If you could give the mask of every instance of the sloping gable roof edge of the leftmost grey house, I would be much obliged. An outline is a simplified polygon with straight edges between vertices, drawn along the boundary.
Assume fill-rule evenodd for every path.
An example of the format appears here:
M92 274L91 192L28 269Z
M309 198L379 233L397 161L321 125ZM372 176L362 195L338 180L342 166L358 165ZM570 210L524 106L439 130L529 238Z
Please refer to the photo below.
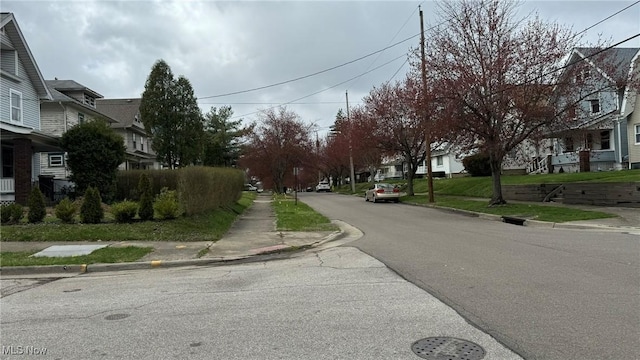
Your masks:
M7 38L11 41L11 46L18 52L18 56L22 60L27 76L38 93L38 97L43 100L51 100L51 93L44 82L38 64L31 54L31 50L29 50L27 41L22 35L13 13L0 13L0 28L4 28ZM2 46L6 45L3 42Z

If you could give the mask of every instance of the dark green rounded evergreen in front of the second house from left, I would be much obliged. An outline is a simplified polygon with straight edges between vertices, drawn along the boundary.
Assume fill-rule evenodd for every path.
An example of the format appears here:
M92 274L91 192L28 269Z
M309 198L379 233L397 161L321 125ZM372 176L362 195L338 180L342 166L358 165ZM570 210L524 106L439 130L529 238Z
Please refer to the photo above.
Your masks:
M78 124L65 132L60 146L67 153L69 179L79 193L94 186L106 201L115 193L118 166L125 160L125 146L118 135L102 120Z

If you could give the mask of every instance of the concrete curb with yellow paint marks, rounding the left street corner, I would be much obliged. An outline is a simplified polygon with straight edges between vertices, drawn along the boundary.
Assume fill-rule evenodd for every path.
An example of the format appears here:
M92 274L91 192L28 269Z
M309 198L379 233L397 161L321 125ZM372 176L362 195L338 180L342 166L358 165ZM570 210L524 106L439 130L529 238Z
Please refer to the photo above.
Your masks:
M320 246L330 241L340 239L344 231L335 231L323 239L302 245L279 247L277 249L253 252L249 250L248 254L230 257L213 257L206 259L187 259L187 260L150 260L128 263L113 264L82 264L82 265L45 265L45 266L10 266L0 268L0 276L16 276L16 275L50 275L50 274L86 274L109 271L128 271L128 270L146 270L157 268L175 268L186 266L222 266L226 264L260 262L266 260L286 259L290 256L316 246Z

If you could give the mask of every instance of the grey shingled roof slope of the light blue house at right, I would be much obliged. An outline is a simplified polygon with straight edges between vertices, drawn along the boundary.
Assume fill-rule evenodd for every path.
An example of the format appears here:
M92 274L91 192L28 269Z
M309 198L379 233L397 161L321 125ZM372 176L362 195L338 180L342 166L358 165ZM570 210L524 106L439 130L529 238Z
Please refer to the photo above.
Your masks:
M631 68L631 62L640 52L640 48L610 48L599 52L601 50L601 48L587 47L575 49L582 58L588 57L588 60L593 65L597 66L616 82L626 80Z

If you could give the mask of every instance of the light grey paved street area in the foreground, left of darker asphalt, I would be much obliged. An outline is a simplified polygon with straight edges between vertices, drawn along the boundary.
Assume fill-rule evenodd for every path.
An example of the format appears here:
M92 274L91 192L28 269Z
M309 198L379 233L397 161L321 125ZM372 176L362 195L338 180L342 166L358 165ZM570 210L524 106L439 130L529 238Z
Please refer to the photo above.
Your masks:
M351 247L32 285L0 299L3 359L418 359L412 343L432 336L519 359ZM8 355L29 347L46 355Z

